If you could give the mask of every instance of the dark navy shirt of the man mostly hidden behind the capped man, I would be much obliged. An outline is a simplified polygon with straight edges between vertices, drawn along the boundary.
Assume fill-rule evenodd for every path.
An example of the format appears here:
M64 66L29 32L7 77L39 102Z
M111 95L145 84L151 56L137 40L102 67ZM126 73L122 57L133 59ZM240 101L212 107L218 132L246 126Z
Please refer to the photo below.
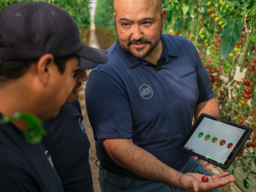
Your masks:
M58 116L45 121L44 125L47 136L43 144L51 154L65 192L93 191L88 161L90 142L82 120L77 100L63 105Z

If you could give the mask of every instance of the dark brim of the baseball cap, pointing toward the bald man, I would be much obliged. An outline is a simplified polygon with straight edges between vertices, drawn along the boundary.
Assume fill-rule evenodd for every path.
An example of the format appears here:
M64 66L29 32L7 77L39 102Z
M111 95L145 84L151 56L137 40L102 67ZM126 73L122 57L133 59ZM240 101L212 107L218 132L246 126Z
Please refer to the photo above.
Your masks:
M106 63L109 61L109 57L106 56L107 51L100 50L87 46L83 43L83 48L76 55L80 56L79 70L91 70L97 67L100 63Z

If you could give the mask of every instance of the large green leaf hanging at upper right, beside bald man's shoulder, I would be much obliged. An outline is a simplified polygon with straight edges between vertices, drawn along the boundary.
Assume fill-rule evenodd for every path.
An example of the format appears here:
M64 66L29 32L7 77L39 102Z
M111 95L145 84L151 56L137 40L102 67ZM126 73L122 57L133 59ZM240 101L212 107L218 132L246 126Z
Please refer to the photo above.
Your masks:
M240 40L240 35L243 31L243 23L239 19L229 20L224 26L224 31L221 33L221 52L223 59L235 48L235 43Z

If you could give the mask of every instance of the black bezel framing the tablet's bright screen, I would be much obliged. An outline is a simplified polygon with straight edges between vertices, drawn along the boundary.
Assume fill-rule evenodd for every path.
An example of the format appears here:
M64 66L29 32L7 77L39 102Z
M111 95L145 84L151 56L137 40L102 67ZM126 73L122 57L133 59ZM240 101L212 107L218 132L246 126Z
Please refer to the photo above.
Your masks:
M184 149L183 147L185 146L186 142L190 139L191 135L194 133L194 131L196 130L196 128L198 127L198 125L200 124L200 122L204 119L204 117L212 119L212 120L217 120L220 122L223 122L224 124L228 124L228 125L232 125L235 127L238 127L240 129L245 130L243 136L240 138L240 140L238 141L237 145L234 147L234 149L232 150L231 154L228 156L227 160L225 161L224 164L220 164L217 161L208 159L204 156L201 156L199 154L196 154L193 151L189 151L187 149ZM247 141L248 137L250 136L250 134L252 133L252 129L250 127L244 126L244 125L240 125L240 124L236 124L235 122L231 122L228 120L224 120L224 119L220 119L218 117L214 117L211 115L207 115L207 114L201 114L198 119L196 119L194 125L191 127L191 129L189 130L189 132L186 134L186 136L184 137L184 139L180 142L178 149L181 151L184 151L192 156L197 156L199 159L205 160L208 163L211 163L213 165L219 166L220 168L223 169L228 169L229 166L232 164L233 160L235 159L235 157L237 156L238 152L240 151L240 149L242 149L243 145L245 144L245 142Z

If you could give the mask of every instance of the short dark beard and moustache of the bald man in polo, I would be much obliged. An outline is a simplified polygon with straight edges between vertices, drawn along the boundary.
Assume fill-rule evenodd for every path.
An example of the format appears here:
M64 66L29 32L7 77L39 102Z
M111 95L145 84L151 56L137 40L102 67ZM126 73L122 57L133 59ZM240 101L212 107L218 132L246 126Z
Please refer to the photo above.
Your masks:
M163 25L162 25L162 20L161 20L161 28L160 28L160 33L159 36L157 37L157 40L152 42L150 40L147 40L147 38L142 37L140 40L129 40L129 42L125 45L125 43L122 43L119 41L118 38L118 33L116 30L116 35L117 35L117 41L119 42L120 46L127 52L129 53L129 55L131 55L132 57L135 57L137 59L140 58L145 58L147 56L150 55L150 53L157 47L157 45L160 42L160 38L162 35L162 31L163 31ZM143 43L148 43L150 45L150 47L147 50L144 50L144 48L136 48L135 51L131 51L130 46L132 44L143 44Z

